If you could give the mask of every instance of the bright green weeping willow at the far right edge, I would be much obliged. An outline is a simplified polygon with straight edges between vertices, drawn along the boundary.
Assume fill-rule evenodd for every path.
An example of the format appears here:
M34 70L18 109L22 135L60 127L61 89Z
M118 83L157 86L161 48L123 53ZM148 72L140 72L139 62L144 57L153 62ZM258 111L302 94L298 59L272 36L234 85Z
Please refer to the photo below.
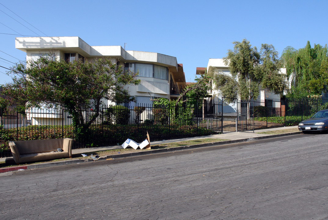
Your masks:
M328 48L308 41L304 48L286 47L281 60L291 83L290 96L305 97L328 93Z

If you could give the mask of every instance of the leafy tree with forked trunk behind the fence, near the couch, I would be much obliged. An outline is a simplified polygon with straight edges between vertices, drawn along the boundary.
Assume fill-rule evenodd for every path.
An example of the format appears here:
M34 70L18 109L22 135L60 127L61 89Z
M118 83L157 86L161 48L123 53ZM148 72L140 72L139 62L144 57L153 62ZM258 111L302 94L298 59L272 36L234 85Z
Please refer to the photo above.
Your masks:
M8 104L15 103L16 109L63 106L80 134L99 116L102 100L130 101L125 86L140 82L136 73L125 72L109 59L66 62L40 57L13 66L9 74L15 75L13 81L2 91ZM88 108L94 109L95 114L86 121L83 110Z

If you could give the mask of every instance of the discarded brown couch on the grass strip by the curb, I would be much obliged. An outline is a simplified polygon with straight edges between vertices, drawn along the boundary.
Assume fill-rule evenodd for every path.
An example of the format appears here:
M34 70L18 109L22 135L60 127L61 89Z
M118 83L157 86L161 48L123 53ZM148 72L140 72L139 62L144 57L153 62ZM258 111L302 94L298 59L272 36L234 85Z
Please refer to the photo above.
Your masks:
M57 158L72 157L71 138L10 141L9 146L15 163L51 160ZM57 149L61 149L57 151Z

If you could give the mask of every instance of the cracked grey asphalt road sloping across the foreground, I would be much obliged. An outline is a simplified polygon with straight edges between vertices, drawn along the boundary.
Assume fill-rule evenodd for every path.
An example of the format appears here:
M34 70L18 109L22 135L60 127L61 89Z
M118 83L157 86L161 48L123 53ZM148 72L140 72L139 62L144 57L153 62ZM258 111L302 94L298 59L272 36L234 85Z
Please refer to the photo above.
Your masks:
M0 219L328 219L327 134L0 175Z

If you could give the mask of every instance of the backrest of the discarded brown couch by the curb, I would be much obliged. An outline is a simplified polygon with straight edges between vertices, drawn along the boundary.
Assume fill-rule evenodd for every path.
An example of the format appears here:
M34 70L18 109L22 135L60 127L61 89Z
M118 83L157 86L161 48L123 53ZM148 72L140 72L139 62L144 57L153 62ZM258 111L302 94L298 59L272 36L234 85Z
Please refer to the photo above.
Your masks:
M32 140L32 141L15 141L19 154L33 154L56 151L57 148L63 149L63 138Z

